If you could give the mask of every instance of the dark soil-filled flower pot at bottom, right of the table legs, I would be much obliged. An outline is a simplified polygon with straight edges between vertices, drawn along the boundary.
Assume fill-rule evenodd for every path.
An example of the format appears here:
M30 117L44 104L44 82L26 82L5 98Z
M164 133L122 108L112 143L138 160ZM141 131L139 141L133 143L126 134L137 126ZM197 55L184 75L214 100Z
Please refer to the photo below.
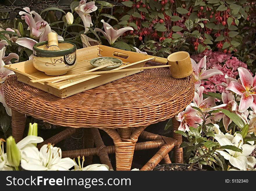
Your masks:
M190 165L182 163L170 163L156 166L153 171L197 171L203 170L198 167L193 166L192 169L189 169Z

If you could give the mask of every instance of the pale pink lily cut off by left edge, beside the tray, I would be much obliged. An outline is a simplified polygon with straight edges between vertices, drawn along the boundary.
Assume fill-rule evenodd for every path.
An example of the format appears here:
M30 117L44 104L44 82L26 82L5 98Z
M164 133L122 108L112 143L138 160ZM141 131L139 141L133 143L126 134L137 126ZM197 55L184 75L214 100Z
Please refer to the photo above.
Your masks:
M0 50L0 102L3 103L3 106L6 108L6 112L8 115L12 116L11 109L6 105L3 94L3 86L2 83L5 81L8 75L15 74L13 71L3 67L5 63L2 60L2 57L5 53L5 47Z

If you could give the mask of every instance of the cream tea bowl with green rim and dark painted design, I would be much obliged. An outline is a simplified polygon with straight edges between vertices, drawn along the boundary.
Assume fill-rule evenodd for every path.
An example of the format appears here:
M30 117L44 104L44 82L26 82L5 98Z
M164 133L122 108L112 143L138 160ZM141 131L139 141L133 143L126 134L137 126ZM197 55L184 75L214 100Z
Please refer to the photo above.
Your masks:
M50 76L66 74L77 65L76 45L58 41L60 50L48 51L48 41L33 46L33 66Z

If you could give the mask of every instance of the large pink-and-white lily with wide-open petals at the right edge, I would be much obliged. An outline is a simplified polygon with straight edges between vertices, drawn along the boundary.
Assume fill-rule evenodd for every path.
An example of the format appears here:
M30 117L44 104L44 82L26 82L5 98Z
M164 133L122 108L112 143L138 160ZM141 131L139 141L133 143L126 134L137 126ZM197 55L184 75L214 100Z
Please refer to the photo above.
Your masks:
M253 111L256 111L256 76L253 78L250 72L243 67L238 68L238 73L242 85L235 81L231 81L226 90L230 90L238 95L241 95L238 109L239 112L244 112L249 107Z

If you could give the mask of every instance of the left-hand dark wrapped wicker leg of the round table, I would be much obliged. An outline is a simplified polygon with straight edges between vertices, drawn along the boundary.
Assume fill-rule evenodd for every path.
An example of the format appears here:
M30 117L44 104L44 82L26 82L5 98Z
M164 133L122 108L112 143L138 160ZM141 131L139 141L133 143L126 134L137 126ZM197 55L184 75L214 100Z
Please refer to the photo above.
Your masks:
M15 142L19 142L23 138L23 133L26 124L26 114L19 113L12 109L12 131Z

